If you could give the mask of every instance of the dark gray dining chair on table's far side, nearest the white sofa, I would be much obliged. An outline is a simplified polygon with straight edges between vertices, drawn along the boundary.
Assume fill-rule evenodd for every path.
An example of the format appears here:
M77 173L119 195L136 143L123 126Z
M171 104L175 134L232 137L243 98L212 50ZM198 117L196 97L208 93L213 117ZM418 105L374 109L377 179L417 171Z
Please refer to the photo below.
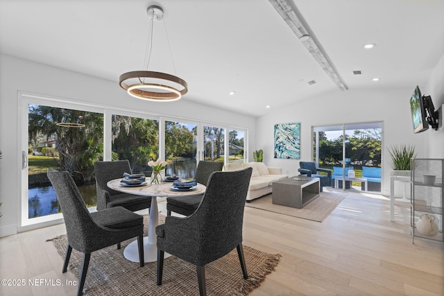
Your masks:
M208 178L211 173L222 171L223 162L205 162L201 160L197 164L194 179L196 182L207 185ZM189 216L198 208L203 194L189 196L172 196L167 198L167 216L171 216L171 212Z

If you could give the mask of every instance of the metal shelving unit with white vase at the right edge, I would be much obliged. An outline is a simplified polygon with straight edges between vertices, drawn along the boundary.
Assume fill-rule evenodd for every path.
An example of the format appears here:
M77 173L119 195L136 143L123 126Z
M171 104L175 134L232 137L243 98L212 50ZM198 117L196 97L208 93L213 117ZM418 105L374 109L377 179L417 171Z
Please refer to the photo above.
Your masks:
M411 240L415 237L444 241L444 159L413 158L411 159ZM427 182L425 175L434 176L434 182ZM435 217L438 225L436 236L420 234L416 223L422 214Z

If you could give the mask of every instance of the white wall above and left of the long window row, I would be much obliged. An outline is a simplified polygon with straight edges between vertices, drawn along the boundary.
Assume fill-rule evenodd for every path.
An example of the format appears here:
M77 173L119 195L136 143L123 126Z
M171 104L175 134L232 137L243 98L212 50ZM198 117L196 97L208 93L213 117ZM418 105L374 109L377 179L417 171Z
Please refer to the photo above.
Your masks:
M128 106L166 116L180 116L208 123L230 124L248 129L248 141L255 143L255 118L187 101L157 103L128 96L118 82L66 71L44 64L0 55L0 236L15 234L19 227L21 148L17 128L17 92L92 102L108 107ZM192 87L192 85L190 85ZM130 103L130 104L129 104Z

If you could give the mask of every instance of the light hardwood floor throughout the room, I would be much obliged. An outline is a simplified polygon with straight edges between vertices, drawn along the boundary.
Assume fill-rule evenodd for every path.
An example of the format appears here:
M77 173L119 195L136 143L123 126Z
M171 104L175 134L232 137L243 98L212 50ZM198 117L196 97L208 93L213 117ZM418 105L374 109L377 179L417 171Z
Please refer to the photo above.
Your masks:
M164 200L159 209L166 213ZM396 202L395 222L389 210L388 198L365 193L349 193L323 223L246 207L244 245L282 254L250 295L444 295L444 243L412 244L409 204ZM56 225L1 238L1 279L63 285L0 286L0 295L75 295L66 281L76 278L61 273L62 258L46 242L64 233Z

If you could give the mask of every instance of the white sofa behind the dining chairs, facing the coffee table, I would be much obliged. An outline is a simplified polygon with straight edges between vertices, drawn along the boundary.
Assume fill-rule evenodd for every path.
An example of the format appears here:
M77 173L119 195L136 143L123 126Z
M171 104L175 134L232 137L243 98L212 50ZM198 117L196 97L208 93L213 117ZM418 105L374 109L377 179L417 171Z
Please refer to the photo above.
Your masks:
M248 187L247 200L254 200L271 193L273 182L289 177L289 175L282 175L282 168L266 166L263 162L248 162L246 164L230 162L230 164L224 166L223 170L239 171L248 167L253 168L253 173Z

